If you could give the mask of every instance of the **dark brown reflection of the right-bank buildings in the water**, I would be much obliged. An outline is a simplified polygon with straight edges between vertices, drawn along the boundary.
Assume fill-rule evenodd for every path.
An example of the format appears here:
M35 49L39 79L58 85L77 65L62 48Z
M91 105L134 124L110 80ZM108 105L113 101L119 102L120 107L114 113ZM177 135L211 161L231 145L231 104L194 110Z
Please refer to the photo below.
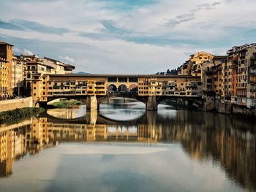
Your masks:
M179 112L162 127L162 138L180 142L189 157L219 161L227 175L255 191L256 135L239 128L253 123L212 113Z

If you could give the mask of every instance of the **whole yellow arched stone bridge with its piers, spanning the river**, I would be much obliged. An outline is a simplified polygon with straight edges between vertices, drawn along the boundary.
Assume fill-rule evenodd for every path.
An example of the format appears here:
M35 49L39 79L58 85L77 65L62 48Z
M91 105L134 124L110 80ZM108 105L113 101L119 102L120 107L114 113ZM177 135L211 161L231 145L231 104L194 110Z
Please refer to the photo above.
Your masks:
M45 74L32 83L32 96L41 106L59 98L86 100L87 110L117 96L142 101L146 110L171 98L202 104L200 77L181 75Z

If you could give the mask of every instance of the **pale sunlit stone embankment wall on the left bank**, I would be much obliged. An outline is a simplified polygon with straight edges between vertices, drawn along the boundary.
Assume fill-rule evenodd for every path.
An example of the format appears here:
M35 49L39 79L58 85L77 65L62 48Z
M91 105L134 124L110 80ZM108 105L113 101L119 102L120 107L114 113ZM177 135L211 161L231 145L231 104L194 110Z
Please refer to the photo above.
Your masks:
M0 112L21 109L25 107L33 107L32 97L0 101Z

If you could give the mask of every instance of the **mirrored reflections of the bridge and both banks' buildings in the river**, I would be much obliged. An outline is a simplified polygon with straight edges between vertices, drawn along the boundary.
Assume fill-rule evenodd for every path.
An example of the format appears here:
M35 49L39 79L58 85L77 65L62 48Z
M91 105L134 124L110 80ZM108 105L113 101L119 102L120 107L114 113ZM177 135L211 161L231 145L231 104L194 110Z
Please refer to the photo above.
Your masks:
M138 105L132 104L135 108L127 112L129 118L125 120L122 107L105 104L99 113L71 117L50 111L39 118L1 126L0 176L12 174L12 163L20 157L34 155L61 142L174 143L181 145L192 161L221 165L233 183L249 191L256 189L254 122L164 106L159 112L145 112ZM84 112L83 107L81 111Z

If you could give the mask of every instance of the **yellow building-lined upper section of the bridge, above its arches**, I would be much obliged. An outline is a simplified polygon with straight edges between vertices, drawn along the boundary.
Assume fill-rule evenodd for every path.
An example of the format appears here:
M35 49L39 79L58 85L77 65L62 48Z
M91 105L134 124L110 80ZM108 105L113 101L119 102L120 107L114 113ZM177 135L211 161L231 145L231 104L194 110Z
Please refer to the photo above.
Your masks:
M109 93L138 96L201 95L200 77L160 74L45 74L32 82L34 101L50 97L107 96Z

